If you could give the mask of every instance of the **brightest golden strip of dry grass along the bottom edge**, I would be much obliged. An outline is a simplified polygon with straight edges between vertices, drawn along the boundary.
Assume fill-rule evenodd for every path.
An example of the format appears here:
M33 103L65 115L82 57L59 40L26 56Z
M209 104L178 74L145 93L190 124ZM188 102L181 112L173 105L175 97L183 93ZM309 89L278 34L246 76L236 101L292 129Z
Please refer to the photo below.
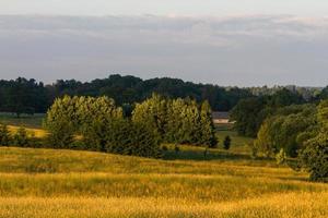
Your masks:
M327 217L328 193L276 194L234 202L195 202L152 197L9 197L0 216L35 217Z

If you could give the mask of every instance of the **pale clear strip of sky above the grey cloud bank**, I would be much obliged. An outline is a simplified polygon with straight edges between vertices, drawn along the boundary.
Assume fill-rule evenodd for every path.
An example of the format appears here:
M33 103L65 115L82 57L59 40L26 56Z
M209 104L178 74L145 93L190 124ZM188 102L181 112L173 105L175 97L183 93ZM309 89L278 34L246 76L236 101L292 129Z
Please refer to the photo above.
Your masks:
M328 15L327 0L0 0L0 14Z

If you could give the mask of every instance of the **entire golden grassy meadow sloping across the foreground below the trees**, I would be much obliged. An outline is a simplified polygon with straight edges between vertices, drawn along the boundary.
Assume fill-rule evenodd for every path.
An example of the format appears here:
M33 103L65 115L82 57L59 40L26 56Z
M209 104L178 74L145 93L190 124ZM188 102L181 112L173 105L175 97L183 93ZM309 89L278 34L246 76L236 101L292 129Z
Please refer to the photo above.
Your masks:
M231 130L218 137L207 155L166 145L162 159L0 147L0 217L328 217L327 184L251 159L251 138Z

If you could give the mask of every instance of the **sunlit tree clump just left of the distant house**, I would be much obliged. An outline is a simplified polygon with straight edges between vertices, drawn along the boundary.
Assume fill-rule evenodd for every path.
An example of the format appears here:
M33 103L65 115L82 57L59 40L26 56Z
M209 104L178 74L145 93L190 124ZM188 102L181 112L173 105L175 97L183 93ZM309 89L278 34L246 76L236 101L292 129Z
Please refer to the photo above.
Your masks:
M138 104L133 122L144 123L165 143L204 145L214 147L216 137L209 102L199 106L191 99L152 98Z

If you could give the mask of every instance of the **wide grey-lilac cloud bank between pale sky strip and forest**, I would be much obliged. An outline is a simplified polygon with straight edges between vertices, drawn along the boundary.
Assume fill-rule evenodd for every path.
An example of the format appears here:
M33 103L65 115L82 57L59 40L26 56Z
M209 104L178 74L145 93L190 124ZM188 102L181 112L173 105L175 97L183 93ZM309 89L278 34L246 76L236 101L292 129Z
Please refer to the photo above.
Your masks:
M0 16L1 77L326 85L327 58L325 17Z

